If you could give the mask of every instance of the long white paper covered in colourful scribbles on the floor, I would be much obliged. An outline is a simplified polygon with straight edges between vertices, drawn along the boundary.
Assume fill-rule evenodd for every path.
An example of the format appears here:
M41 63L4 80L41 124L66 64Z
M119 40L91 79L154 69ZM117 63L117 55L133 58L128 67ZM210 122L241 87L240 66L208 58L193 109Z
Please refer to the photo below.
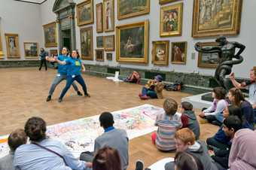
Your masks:
M157 114L161 113L163 113L163 108L154 105L141 105L112 112L114 126L118 129L125 129L130 139L156 130L154 121ZM75 157L79 157L81 152L93 151L94 140L102 133L103 129L99 126L99 115L47 127L47 135L66 144ZM6 154L8 154L7 141L1 143L0 139L0 158Z

